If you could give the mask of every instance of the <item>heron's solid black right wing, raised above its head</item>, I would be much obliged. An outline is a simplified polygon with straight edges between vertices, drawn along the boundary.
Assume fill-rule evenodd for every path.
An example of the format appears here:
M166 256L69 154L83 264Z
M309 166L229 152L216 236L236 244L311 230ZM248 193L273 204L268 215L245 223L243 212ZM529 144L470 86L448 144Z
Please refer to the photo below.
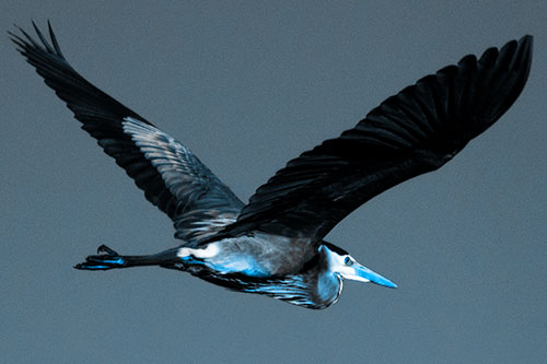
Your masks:
M450 161L514 103L533 37L464 57L387 98L353 129L304 152L260 186L223 233L323 238L374 196Z

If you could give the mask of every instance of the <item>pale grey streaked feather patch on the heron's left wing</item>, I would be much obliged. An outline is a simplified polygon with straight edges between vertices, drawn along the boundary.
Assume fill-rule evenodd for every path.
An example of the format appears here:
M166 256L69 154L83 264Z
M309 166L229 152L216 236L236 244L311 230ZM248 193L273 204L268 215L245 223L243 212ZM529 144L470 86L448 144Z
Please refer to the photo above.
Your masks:
M181 203L177 215L172 216L177 238L195 245L196 240L213 236L235 222L243 202L189 149L165 132L135 118L126 117L121 125L124 132L130 136ZM207 201L208 196L212 203L202 202L203 198Z

